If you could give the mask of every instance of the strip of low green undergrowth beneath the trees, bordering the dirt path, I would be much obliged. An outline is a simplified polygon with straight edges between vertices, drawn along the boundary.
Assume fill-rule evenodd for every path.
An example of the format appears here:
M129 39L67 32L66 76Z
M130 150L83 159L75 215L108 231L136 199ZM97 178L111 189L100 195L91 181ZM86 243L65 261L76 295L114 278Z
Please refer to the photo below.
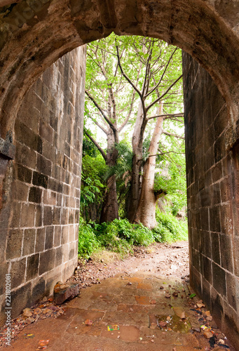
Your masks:
M157 211L158 226L149 230L141 223L132 224L127 219L115 219L110 223L86 224L80 220L78 256L89 258L93 253L105 250L121 257L132 252L132 246L149 246L153 242L172 242L187 239L187 223L172 213Z

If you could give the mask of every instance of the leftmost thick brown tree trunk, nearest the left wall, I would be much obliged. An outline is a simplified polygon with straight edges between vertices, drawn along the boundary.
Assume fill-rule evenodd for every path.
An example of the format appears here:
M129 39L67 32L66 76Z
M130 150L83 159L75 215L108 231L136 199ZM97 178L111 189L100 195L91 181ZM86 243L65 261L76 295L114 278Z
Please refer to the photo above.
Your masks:
M107 166L115 166L118 157L118 151L114 147L114 133L109 128L107 133ZM100 223L112 222L114 219L118 219L118 201L117 201L117 190L116 190L116 176L111 176L107 180L107 190L104 195L104 201L102 204L102 211L100 215Z

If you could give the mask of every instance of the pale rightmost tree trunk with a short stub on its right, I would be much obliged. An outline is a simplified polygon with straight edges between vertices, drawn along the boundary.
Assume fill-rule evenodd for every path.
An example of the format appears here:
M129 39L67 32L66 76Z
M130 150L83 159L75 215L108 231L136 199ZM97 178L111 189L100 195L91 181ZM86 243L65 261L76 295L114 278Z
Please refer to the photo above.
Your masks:
M161 114L159 112L158 114ZM145 227L153 229L156 227L156 202L159 197L165 195L163 190L155 192L153 190L154 185L154 173L156 167L156 156L158 150L158 143L163 132L163 117L159 117L156 121L156 126L153 131L153 136L149 146L149 158L144 164L144 173L142 178L142 190L139 198L139 204L135 216L135 222L142 223Z

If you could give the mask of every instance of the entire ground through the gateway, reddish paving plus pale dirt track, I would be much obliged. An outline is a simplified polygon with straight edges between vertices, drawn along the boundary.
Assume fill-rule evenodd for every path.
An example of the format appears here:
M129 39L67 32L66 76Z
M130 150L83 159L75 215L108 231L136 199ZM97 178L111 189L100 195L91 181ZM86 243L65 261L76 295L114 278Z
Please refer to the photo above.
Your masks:
M235 351L190 297L186 241L137 247L125 260L81 260L70 280L80 294L60 306L45 298L14 319L9 350L45 350L43 340L47 351Z

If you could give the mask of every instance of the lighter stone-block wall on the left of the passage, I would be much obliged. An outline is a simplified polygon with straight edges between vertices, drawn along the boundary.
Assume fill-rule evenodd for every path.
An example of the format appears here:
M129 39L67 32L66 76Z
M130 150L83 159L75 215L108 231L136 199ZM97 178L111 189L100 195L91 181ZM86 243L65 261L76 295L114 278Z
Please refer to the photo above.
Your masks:
M74 272L78 252L86 48L57 60L25 95L0 212L0 295L11 273L12 316ZM4 322L1 312L1 322Z

